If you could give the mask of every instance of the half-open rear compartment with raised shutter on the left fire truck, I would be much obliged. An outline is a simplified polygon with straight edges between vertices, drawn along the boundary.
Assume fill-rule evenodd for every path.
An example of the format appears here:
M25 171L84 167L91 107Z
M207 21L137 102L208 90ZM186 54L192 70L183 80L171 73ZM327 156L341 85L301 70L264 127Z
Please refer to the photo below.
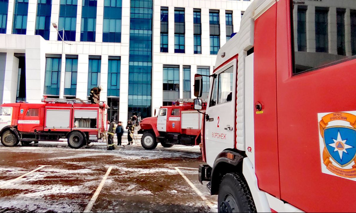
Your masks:
M98 110L74 110L75 128L96 128Z

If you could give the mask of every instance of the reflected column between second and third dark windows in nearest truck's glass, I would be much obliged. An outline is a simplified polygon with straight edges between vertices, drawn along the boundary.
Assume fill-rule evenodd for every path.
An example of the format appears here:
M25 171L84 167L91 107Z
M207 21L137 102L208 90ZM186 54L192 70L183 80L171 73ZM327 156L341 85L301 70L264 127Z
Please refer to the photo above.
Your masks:
M337 55L337 28L336 28L336 7L329 8L328 28L329 28L329 53Z

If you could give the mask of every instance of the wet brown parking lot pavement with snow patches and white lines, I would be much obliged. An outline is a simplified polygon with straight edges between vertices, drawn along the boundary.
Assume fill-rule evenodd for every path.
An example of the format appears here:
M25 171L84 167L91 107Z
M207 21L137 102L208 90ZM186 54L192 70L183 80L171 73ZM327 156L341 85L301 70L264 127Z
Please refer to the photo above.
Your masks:
M217 212L198 181L199 147L145 150L138 140L114 151L1 145L0 212Z

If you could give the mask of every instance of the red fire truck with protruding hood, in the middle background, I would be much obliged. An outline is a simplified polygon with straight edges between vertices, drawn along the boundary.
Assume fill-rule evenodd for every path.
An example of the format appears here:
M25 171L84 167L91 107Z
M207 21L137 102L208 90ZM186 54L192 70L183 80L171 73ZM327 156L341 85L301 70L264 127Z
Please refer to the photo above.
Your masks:
M157 117L143 119L138 131L143 134L142 147L154 149L158 142L166 148L174 144L198 145L203 116L193 106L193 99L177 99L172 106L159 108Z

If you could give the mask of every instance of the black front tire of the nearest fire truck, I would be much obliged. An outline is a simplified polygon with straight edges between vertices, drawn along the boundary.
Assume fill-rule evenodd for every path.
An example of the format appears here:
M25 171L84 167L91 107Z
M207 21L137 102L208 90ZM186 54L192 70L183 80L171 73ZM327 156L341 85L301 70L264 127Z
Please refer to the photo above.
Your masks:
M224 175L219 187L218 212L257 212L250 189L242 175Z

